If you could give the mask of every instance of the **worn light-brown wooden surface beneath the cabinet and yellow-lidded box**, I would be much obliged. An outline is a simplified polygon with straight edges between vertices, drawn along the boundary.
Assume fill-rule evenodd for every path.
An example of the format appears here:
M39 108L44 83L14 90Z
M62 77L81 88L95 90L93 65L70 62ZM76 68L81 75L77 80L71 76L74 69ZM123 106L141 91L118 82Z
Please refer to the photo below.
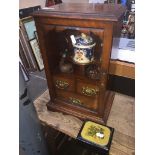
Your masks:
M48 111L48 90L34 101L41 123L76 138L82 121L71 115ZM116 93L107 125L115 128L110 155L133 155L134 143L134 98Z

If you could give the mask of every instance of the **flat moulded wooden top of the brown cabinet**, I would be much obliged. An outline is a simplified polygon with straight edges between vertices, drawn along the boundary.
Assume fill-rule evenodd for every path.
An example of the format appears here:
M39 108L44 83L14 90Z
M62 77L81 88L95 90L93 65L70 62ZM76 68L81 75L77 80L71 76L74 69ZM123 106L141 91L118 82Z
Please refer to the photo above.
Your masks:
M125 9L121 4L61 3L34 12L33 16L116 22L122 18Z

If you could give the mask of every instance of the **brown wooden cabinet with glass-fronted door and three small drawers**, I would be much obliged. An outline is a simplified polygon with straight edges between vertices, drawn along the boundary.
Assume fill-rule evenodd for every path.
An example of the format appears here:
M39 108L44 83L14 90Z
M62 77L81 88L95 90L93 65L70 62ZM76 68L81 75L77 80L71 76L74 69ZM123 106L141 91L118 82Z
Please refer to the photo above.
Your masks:
M112 40L120 36L124 11L121 5L62 3L33 14L51 97L49 110L106 123L114 98L107 90ZM87 63L73 60L71 36L81 34L95 42L93 60ZM70 72L62 71L66 64Z

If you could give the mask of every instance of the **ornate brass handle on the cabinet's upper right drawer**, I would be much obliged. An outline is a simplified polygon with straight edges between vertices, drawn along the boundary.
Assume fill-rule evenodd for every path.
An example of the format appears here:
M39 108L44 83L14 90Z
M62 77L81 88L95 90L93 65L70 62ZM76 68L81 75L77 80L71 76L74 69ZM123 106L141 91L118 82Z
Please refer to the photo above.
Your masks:
M82 87L82 94L86 96L94 96L99 92L98 89L89 88L89 87Z

